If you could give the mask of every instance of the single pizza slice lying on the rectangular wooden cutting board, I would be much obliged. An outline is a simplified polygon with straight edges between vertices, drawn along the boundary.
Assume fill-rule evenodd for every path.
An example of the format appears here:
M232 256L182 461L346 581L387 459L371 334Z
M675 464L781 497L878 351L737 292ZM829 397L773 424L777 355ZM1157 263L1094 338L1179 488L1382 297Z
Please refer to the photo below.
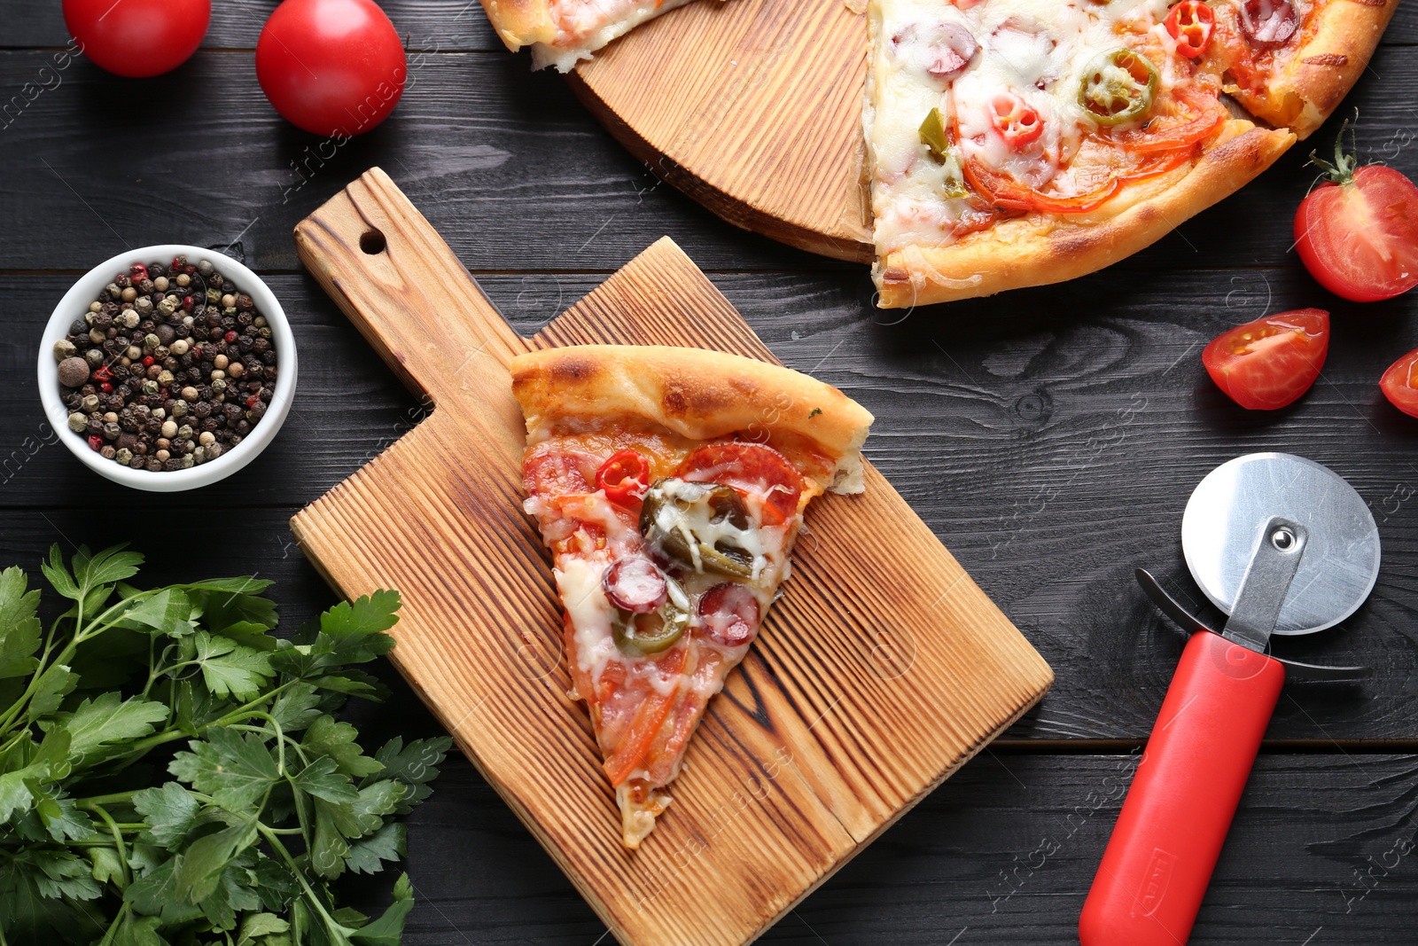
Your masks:
M700 349L520 355L512 391L570 695L590 709L635 848L788 576L808 501L862 491L872 416L805 374Z

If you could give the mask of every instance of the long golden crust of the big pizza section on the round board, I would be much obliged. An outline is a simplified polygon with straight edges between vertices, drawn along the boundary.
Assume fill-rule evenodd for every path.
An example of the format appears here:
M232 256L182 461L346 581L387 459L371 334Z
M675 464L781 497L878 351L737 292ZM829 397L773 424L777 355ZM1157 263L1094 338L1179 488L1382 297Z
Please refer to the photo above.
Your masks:
M1231 119L1191 165L1137 182L1090 214L1029 214L949 247L905 247L872 267L883 309L950 302L1062 282L1151 245L1236 191L1295 143L1288 130Z

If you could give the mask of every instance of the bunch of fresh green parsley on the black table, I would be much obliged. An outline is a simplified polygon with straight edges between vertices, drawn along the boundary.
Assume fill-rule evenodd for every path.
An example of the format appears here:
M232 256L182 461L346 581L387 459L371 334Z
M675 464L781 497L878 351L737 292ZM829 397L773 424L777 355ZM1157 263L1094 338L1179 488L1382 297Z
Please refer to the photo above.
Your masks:
M279 640L269 581L143 591L142 560L52 547L68 610L48 631L40 591L0 572L0 943L397 943L407 875L374 920L330 881L403 857L397 817L450 745L367 756L332 715L383 695L354 665L393 647L398 593Z

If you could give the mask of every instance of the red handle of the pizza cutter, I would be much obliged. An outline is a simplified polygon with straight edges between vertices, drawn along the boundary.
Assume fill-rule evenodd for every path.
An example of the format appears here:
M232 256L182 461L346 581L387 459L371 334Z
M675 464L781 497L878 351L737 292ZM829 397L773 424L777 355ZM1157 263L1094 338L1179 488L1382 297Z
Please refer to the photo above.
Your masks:
M1191 935L1285 665L1197 631L1083 903L1083 946L1178 946Z

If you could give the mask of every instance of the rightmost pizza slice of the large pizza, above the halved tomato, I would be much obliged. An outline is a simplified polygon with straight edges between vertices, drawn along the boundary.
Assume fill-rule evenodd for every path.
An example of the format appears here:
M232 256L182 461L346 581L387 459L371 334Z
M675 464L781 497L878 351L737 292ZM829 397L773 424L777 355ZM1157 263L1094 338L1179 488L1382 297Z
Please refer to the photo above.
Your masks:
M1309 138L1368 65L1398 0L1214 0L1207 48L1225 91Z

